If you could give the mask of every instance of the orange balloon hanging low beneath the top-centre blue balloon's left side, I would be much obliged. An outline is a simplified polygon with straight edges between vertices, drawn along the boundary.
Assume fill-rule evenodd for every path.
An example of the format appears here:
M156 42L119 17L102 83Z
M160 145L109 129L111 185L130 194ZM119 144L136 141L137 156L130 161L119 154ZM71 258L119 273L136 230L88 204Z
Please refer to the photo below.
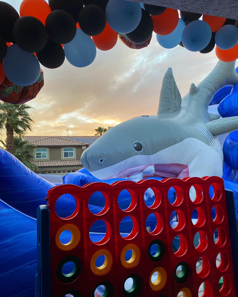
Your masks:
M117 32L112 30L112 28L106 22L106 26L102 33L93 36L93 41L96 47L100 50L112 49L117 43Z

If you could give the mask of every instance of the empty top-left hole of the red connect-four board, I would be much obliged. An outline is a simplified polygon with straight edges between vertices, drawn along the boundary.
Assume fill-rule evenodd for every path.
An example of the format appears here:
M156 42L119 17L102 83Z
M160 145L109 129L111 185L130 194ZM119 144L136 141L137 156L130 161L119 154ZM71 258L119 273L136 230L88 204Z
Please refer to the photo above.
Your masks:
M67 203L67 207L65 207ZM71 194L61 195L55 202L55 213L62 219L75 217L79 211L79 204Z

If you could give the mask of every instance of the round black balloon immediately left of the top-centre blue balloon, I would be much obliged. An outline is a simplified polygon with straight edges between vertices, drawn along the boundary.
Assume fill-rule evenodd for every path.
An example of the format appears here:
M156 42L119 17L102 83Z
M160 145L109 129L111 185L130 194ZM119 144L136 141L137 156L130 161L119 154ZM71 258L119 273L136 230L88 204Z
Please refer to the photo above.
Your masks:
M99 35L106 26L105 13L97 5L86 5L78 15L78 24L85 34L90 36Z

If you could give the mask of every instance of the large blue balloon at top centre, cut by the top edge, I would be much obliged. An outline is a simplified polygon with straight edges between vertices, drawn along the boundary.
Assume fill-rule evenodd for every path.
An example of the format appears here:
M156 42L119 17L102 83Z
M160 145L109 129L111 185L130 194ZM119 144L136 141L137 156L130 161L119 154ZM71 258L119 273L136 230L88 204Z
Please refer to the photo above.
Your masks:
M130 33L141 20L139 3L124 0L109 0L106 6L106 19L117 33Z

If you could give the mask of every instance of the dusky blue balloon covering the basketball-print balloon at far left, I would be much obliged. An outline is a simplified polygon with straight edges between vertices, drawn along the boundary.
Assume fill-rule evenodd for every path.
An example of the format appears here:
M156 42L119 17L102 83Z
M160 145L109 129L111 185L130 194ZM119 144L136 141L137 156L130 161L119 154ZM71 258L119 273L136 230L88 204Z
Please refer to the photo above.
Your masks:
M34 84L41 71L36 56L33 53L25 52L16 44L7 48L2 66L7 78L19 86Z

